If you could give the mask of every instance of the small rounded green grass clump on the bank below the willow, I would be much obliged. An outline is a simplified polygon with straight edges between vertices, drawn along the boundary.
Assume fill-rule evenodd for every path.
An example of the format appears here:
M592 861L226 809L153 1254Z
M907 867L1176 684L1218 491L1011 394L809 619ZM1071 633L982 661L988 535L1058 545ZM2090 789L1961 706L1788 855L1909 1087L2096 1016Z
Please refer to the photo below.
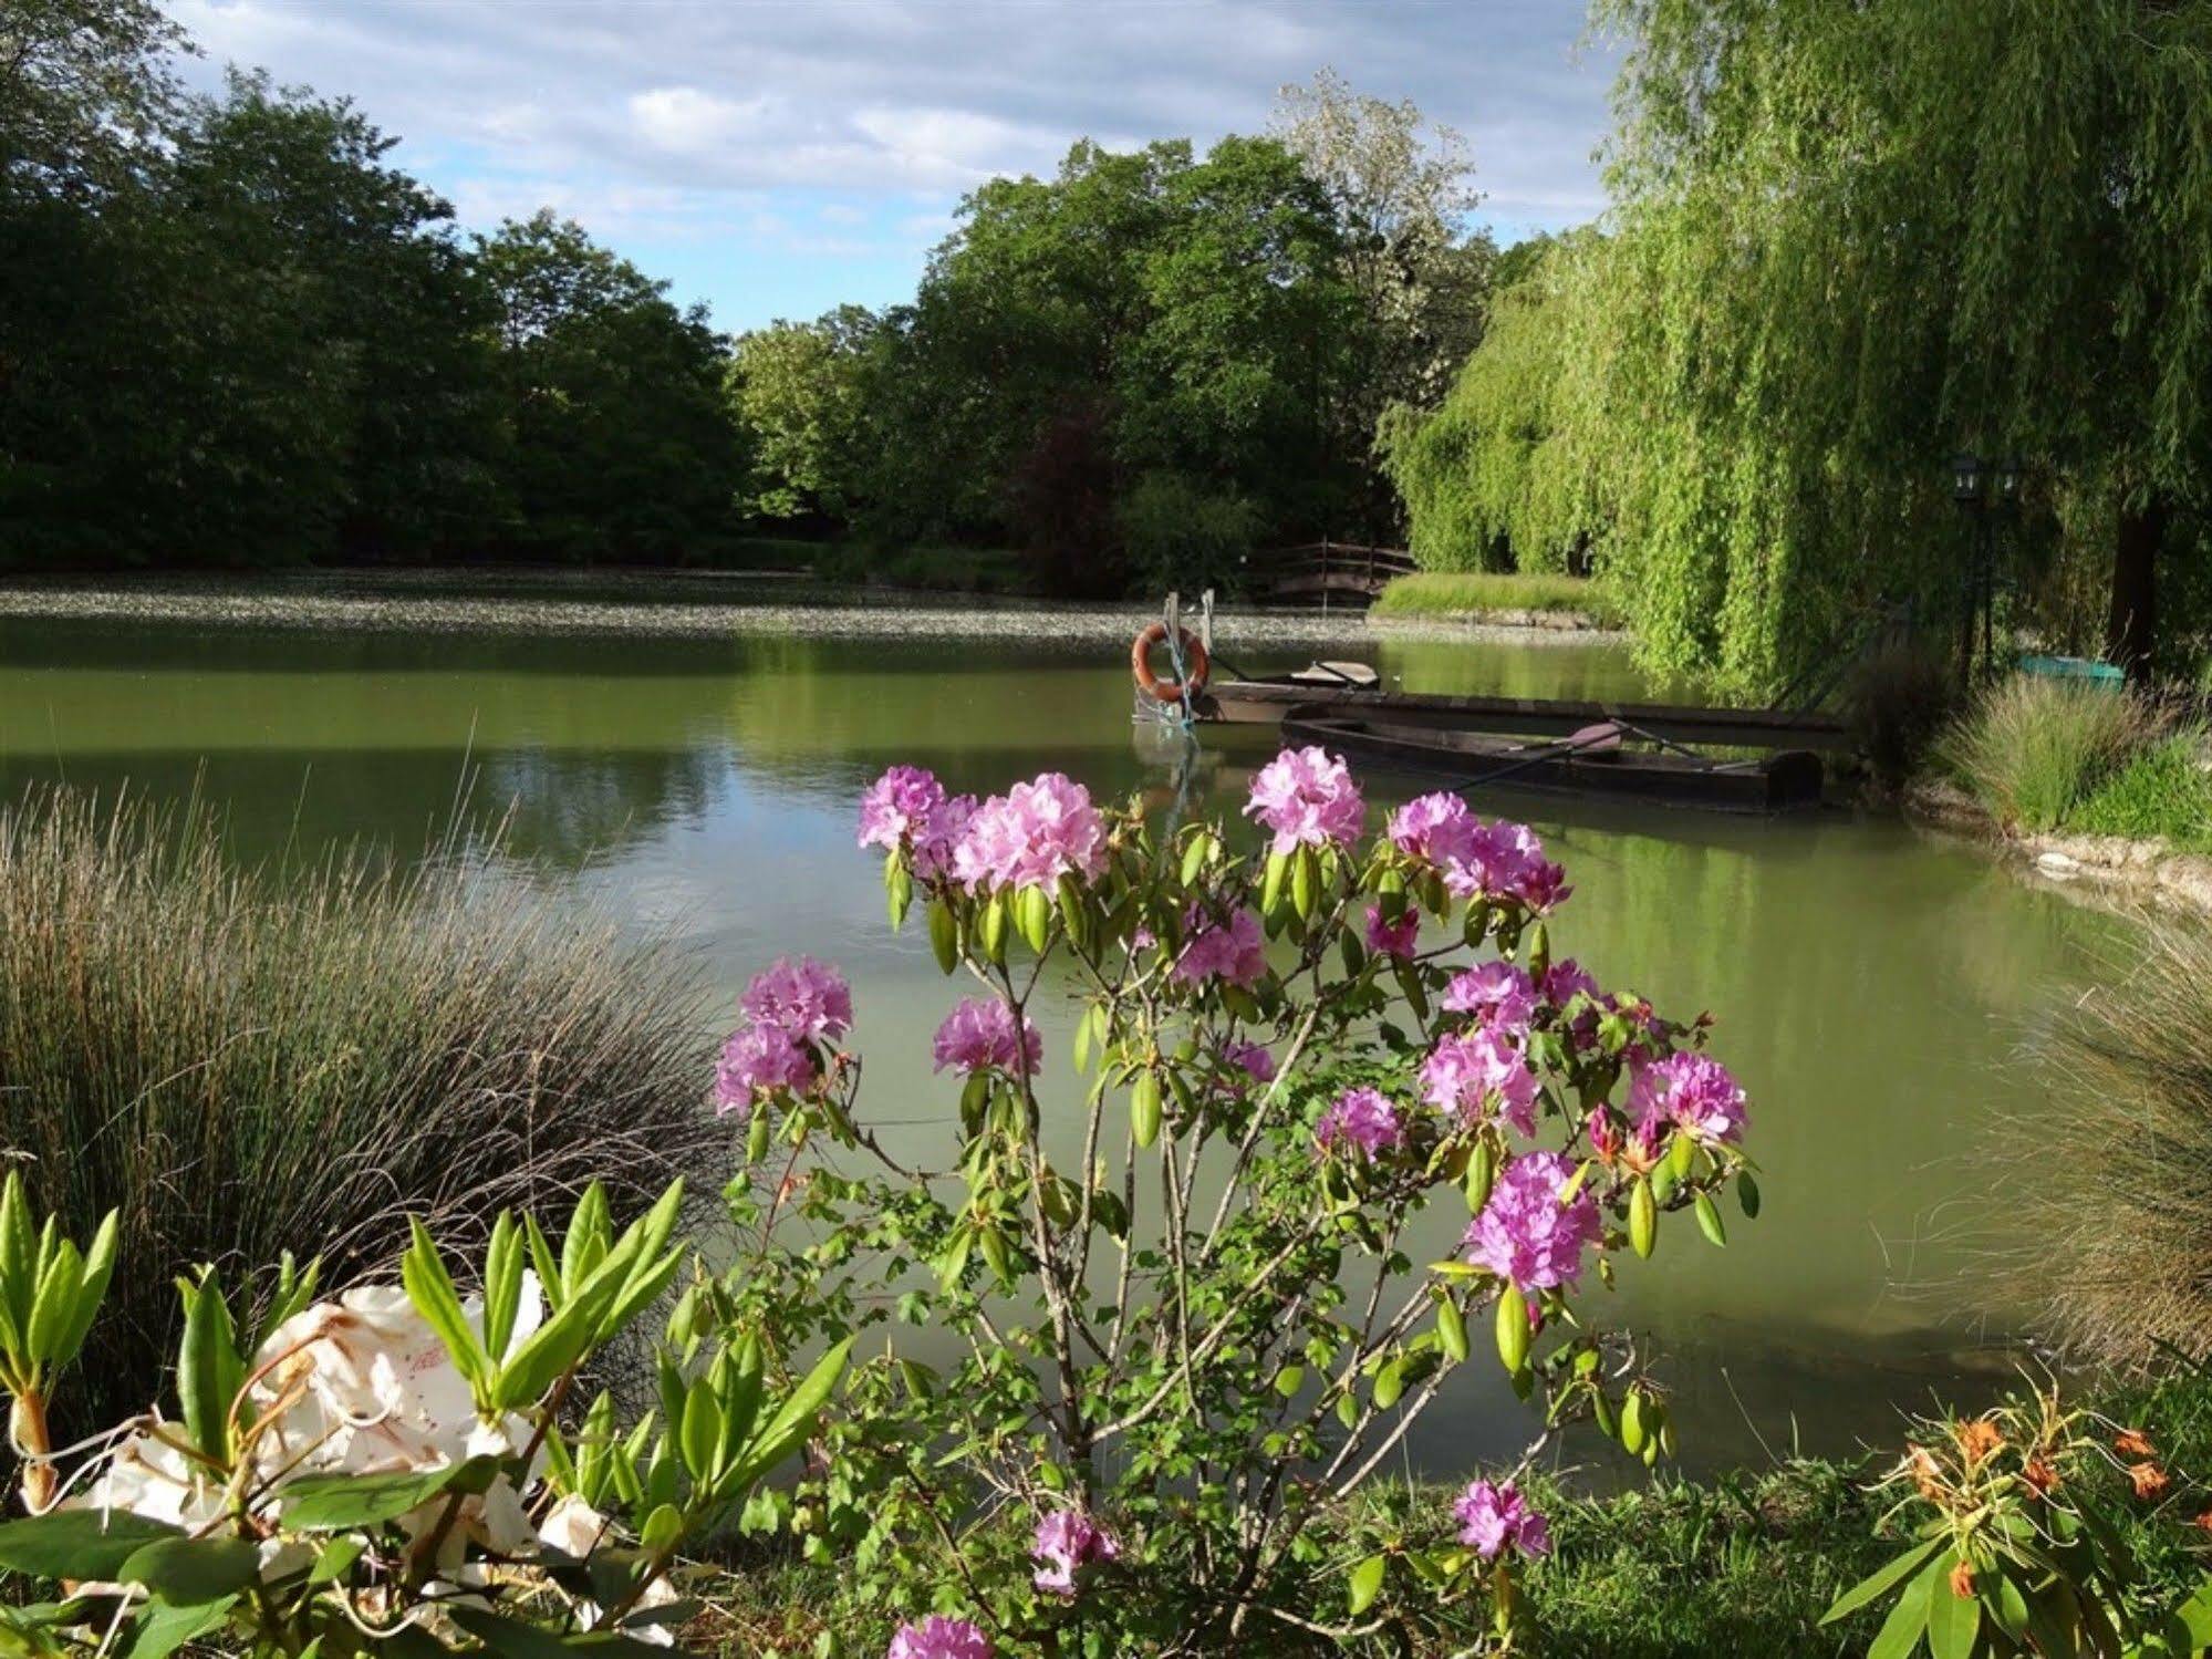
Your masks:
M2159 710L2132 692L2015 675L1982 692L1938 757L2000 823L2042 832L2062 827L2159 730Z

